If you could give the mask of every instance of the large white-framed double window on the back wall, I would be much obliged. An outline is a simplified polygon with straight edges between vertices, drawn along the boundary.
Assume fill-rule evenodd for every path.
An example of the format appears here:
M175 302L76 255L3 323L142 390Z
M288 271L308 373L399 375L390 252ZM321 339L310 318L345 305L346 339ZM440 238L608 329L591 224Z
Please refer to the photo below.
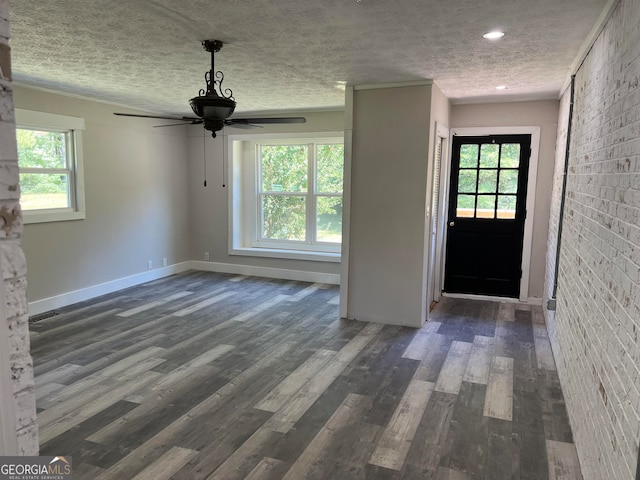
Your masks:
M234 143L240 144L230 148L235 152L232 184L238 208L232 211L230 253L339 261L343 139Z

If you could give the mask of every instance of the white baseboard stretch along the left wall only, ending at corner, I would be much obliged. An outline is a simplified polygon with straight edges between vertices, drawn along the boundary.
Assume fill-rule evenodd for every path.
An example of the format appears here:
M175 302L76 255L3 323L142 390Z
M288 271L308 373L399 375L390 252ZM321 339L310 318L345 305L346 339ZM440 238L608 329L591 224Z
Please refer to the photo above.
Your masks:
M133 287L141 283L151 282L159 278L168 277L176 273L181 273L191 268L191 262L176 263L168 267L149 270L148 272L137 273L129 277L119 278L110 282L92 285L90 287L81 288L72 292L56 295L55 297L43 298L29 303L29 315L38 315L40 313L55 310L56 308L66 307L78 302L84 302L100 295L113 293L123 288Z

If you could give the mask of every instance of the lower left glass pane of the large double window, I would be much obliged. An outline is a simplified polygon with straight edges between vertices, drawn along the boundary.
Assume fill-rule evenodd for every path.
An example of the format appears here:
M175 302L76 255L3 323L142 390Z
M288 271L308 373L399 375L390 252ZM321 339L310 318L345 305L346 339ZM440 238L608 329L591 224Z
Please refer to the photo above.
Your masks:
M304 240L306 198L288 195L262 196L262 238Z

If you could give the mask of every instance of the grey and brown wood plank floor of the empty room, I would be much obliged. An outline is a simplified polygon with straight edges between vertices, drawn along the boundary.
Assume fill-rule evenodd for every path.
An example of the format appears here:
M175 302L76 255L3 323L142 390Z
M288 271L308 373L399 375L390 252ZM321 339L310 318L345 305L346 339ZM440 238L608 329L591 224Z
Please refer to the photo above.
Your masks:
M540 307L444 298L414 330L188 272L31 329L41 454L76 480L581 478Z

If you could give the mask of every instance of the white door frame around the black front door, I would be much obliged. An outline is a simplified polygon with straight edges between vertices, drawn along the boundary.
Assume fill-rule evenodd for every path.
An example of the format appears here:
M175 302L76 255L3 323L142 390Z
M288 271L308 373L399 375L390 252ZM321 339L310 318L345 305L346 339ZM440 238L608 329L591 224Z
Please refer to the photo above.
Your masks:
M529 159L529 177L527 180L527 202L526 202L526 218L524 221L524 234L522 244L522 278L520 279L520 294L518 300L520 302L529 303L529 272L531 269L531 249L533 247L533 220L535 216L535 204L536 204L536 183L538 176L538 156L540 154L540 127L536 126L518 126L518 127L452 127L451 135L449 136L449 152L446 156L446 168L442 169L442 173L446 170L446 181L440 183L441 193L447 193L449 191L449 185L451 183L451 157L453 154L453 137L477 137L486 135L531 135L531 157ZM444 159L443 159L444 160ZM446 204L446 205L445 205ZM446 208L445 212L449 211L449 197L445 197L445 201L442 202L442 206ZM443 214L443 221L446 222L447 213ZM440 259L442 262L442 275L441 275L441 288L444 288L444 272L446 265L444 259L446 257L446 235L447 229L445 223L442 224L443 235L441 236L445 242L442 247L442 253ZM484 295L467 295L467 294L451 294L451 296L462 297L483 297L491 298ZM495 297L500 301L508 301L508 299L502 297Z

